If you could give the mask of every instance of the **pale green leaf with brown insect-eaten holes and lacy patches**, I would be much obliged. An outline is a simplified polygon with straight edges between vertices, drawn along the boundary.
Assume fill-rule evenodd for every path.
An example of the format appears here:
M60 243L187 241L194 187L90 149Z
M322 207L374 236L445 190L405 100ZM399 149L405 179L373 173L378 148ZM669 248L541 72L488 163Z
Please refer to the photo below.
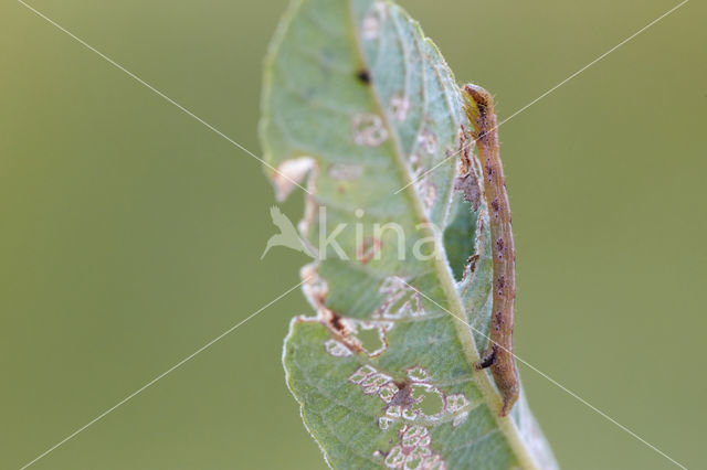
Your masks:
M295 183L310 193L299 231L317 255L302 269L314 313L293 319L283 362L333 467L556 468L525 396L499 417L493 378L472 365L492 253L486 207L455 191L447 158L465 119L446 63L400 7L291 6L266 61L261 137L277 197ZM390 223L401 232L376 232Z

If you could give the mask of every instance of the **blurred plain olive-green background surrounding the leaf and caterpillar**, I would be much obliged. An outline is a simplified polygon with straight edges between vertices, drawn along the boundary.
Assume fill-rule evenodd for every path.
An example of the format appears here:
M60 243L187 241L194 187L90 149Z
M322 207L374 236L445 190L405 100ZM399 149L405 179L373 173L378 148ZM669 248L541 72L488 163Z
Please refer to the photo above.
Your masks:
M285 0L32 4L254 152ZM460 81L523 107L676 4L402 2ZM517 353L704 468L707 8L500 129ZM15 1L0 7L0 468L19 468L298 281L260 163ZM298 193L284 205L302 211ZM36 469L324 468L279 362L299 292ZM567 469L667 460L521 366Z

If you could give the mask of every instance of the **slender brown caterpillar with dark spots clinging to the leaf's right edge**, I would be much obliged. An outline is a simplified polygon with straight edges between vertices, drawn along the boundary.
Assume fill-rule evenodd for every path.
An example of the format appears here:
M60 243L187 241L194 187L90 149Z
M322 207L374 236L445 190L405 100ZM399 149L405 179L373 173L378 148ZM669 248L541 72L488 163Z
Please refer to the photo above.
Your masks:
M516 250L513 241L510 206L506 179L498 151L498 130L494 100L484 88L465 85L462 94L472 125L478 158L484 172L484 196L488 204L492 254L494 259L494 302L489 341L475 368L490 367L503 397L500 416L506 416L518 399L519 382L513 355L514 301L516 299Z

